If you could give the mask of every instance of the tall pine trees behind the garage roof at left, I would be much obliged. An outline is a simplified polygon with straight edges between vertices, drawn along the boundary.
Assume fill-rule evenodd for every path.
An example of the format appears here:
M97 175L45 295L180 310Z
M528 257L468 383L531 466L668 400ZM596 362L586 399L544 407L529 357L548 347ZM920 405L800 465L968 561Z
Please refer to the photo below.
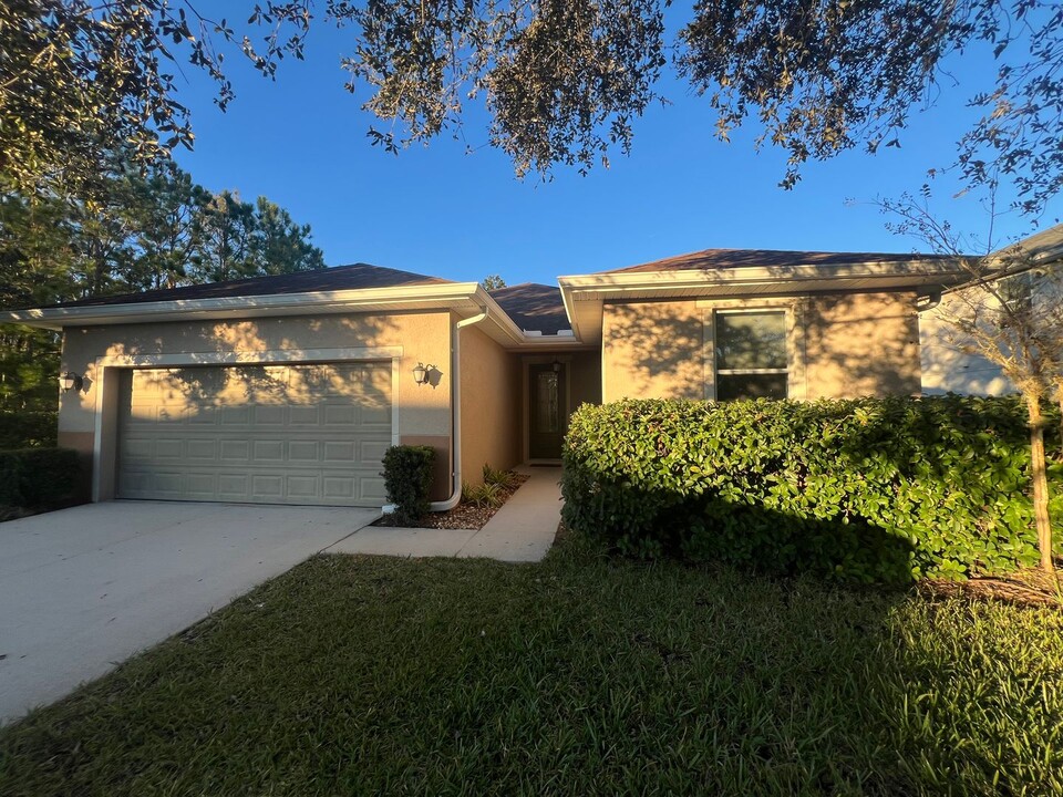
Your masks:
M93 179L91 199L0 194L0 308L324 268L309 225L172 161L109 154ZM55 333L0 324L0 411L53 408L58 369Z

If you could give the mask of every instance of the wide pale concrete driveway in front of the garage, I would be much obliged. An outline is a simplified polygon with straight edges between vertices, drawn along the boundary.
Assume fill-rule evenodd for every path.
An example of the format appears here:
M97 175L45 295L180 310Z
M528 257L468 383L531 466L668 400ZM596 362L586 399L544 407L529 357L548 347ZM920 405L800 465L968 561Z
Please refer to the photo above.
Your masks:
M379 514L111 501L0 524L0 724L103 675Z

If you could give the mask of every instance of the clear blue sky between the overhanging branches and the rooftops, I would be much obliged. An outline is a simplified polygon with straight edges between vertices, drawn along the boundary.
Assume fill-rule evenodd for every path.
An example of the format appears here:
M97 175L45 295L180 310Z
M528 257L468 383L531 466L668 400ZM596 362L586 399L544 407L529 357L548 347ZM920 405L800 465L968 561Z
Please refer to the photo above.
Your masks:
M244 20L247 11L230 17ZM672 11L670 29L681 19ZM330 266L361 261L457 280L498 273L510 284L714 247L910 251L916 242L888 232L869 203L916 190L929 167L951 162L972 118L963 107L968 80L994 71L988 54L958 61L961 85L914 120L900 149L808 164L788 192L777 187L784 153L755 152L754 125L730 144L716 141L708 102L669 74L662 90L672 104L636 121L629 157L616 153L611 168L586 177L558 168L543 183L517 180L503 153L478 146L466 154L465 142L447 134L398 157L370 146L367 130L383 123L360 111L364 90L343 89L339 59L350 42L349 32L319 24L307 60L286 60L275 82L230 53L237 97L226 113L213 105L209 81L184 66L179 96L196 145L176 153L178 163L213 190L265 195L288 208L311 225ZM469 111L463 132L475 147L486 142L486 120L481 106ZM948 185L937 189L939 213L978 231L984 213L950 194ZM1030 221L1014 217L1005 227L1024 235Z

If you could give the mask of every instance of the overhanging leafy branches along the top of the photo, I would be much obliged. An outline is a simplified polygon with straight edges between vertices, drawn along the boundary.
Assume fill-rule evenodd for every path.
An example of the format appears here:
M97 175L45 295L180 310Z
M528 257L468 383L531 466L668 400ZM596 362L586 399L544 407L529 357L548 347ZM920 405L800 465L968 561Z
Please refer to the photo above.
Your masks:
M808 158L899 146L933 104L947 59L992 49L997 74L962 85L982 113L959 142L971 185L1011 178L1035 213L1063 187L1063 7L1050 0L702 0L672 46L660 0L270 0L242 30L188 0L12 0L0 8L0 175L23 193L91 188L101 148L138 163L190 146L172 71L187 61L234 89L226 49L272 76L301 58L316 14L350 31L340 60L351 92L390 124L398 151L454 132L482 99L488 142L518 175L586 172L628 152L633 122L673 65L718 112L716 135L755 117L784 148L792 186ZM937 164L935 164L937 166Z

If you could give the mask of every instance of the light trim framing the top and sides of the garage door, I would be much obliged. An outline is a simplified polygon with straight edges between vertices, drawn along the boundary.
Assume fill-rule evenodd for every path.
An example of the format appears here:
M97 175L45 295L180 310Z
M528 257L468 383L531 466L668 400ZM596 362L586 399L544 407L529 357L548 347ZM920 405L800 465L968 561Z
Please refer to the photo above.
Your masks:
M321 362L383 362L391 360L391 442L399 445L399 394L402 346L350 346L343 349L267 349L264 351L178 352L173 354L118 354L95 360L96 403L93 418L92 500L115 496L117 449L118 374L128 369L182 368L186 365L310 365Z

